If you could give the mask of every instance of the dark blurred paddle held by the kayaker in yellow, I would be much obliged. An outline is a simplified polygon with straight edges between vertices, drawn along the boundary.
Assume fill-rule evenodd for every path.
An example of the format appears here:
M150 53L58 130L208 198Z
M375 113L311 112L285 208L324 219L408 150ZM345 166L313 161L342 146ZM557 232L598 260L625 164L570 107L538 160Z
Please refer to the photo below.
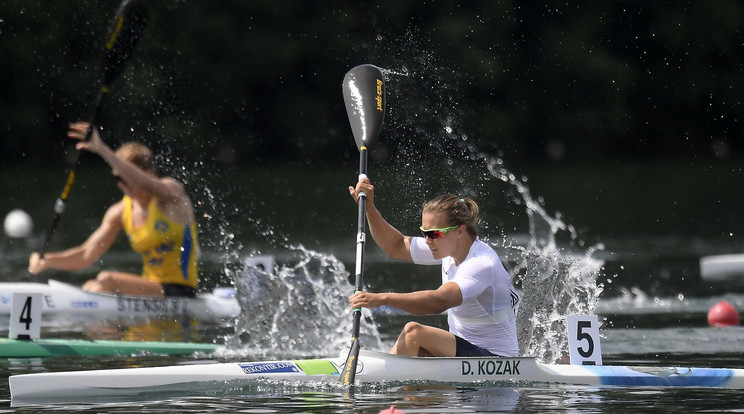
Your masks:
M147 26L147 10L140 0L124 0L119 9L116 11L113 21L111 22L111 28L109 30L109 36L104 45L103 54L103 83L101 89L98 92L98 97L94 105L93 113L90 117L90 128L88 133L85 135L85 140L90 138L93 128L96 126L98 115L101 113L101 106L103 104L103 98L108 94L109 87L121 74L124 69L124 63L129 59L130 55L137 47L139 40L142 38L142 33L145 31ZM70 170L67 177L67 183L65 188L62 190L62 194L54 204L54 218L52 219L52 225L49 227L44 246L40 251L40 256L44 257L44 252L49 247L49 243L52 241L52 236L57 229L59 218L62 212L65 210L65 203L67 197L70 195L72 185L75 183L75 176L80 169L82 163L83 151L78 151L77 157L75 158L75 164Z

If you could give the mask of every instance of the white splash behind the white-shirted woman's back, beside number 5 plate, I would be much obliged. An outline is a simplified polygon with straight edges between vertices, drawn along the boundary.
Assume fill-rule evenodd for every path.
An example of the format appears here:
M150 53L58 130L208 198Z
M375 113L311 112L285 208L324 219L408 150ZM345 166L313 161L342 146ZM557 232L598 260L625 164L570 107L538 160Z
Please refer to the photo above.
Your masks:
M567 315L593 314L603 285L597 284L604 262L593 257L601 244L583 252L565 252L556 243L556 235L568 231L578 240L573 226L559 214L551 217L542 203L534 200L526 180L518 180L497 160L488 160L492 176L516 190L529 218L530 241L513 246L519 252L512 267L513 277L522 286L517 312L517 334L523 355L543 362L560 362L568 353ZM577 244L583 245L583 242Z

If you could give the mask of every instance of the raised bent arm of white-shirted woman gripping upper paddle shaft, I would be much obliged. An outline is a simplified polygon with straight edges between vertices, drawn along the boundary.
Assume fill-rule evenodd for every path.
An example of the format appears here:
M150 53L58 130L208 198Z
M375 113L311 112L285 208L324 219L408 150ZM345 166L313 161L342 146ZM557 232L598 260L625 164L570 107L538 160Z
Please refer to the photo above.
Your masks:
M404 236L398 229L390 225L375 206L375 187L369 178L362 178L356 188L349 187L349 194L355 201L359 201L359 193L367 195L367 223L369 232L378 246L388 257L406 262L413 262L411 258L411 237Z

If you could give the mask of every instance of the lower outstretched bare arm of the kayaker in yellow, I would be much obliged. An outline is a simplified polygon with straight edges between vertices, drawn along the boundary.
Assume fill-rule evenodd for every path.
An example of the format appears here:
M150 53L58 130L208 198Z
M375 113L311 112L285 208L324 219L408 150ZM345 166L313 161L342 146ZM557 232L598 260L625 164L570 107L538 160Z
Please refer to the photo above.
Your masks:
M43 259L39 257L39 253L32 253L29 258L28 271L31 274L38 274L47 269L71 271L90 266L116 241L116 236L122 228L123 210L124 204L121 201L109 207L103 216L101 225L80 246L61 252L46 253Z

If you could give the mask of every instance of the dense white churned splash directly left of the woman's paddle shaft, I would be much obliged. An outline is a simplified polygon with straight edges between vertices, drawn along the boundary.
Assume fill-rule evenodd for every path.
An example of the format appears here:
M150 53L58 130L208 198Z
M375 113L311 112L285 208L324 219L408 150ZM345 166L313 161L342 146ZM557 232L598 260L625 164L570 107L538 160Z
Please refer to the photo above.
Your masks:
M247 268L235 278L242 313L233 349L256 356L328 356L348 347L351 310L349 272L334 256L292 246L297 262L275 266L272 272ZM365 313L360 341L381 349L376 324Z

